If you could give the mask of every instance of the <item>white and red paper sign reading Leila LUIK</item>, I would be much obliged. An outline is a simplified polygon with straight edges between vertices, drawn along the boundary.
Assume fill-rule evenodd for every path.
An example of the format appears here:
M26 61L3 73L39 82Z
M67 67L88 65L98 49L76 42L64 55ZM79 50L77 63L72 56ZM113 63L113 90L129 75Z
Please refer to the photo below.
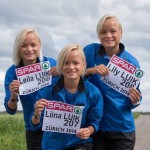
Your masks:
M19 95L27 95L51 84L49 61L28 65L16 69L20 81Z

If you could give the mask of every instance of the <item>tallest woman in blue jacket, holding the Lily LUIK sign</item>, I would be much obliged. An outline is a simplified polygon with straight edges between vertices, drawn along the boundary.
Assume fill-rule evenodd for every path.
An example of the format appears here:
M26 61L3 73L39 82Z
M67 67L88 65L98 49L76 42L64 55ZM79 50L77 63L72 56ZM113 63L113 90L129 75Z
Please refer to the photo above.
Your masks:
M131 109L141 100L139 87L131 88L129 97L122 95L100 80L101 75L109 75L106 67L113 55L139 68L135 57L120 43L122 26L113 15L103 16L97 25L97 35L101 44L93 43L84 48L87 70L86 76L102 92L104 115L100 131L94 136L94 150L133 150L135 125Z

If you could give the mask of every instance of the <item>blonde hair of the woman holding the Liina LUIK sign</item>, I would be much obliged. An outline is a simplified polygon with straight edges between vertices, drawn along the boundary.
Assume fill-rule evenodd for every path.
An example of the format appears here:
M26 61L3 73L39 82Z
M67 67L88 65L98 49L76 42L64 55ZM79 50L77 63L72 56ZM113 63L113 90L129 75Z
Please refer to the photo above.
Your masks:
M67 56L70 54L71 51L74 51L74 50L78 50L81 54L81 57L82 57L82 60L85 61L85 55L84 55L84 52L83 52L83 48L79 45L79 44L69 44L69 45L66 45L59 53L58 55L58 59L57 59L57 71L60 75L62 75L62 68L63 68L63 65L65 64L66 62L66 59L67 59ZM86 61L85 61L86 63ZM86 69L86 65L82 71L82 74L81 76L84 76L85 74L85 69Z

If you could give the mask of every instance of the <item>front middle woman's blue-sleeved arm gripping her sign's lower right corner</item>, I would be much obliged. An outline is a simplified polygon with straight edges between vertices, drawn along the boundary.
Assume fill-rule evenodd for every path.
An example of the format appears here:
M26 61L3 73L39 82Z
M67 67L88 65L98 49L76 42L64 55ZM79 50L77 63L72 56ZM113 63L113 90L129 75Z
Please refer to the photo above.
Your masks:
M93 86L93 85L92 85ZM81 128L77 132L77 137L81 139L87 139L91 134L97 132L99 129L99 123L103 115L103 97L101 92L96 88L91 88L93 91L89 98L89 110L87 114L87 127Z

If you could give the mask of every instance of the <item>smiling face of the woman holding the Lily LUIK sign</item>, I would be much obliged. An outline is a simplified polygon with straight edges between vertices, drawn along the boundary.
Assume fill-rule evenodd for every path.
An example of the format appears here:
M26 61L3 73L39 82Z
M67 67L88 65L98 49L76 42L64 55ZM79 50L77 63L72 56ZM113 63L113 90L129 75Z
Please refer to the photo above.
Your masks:
M109 18L106 19L100 31L100 42L105 49L114 49L119 47L122 31L118 22Z

